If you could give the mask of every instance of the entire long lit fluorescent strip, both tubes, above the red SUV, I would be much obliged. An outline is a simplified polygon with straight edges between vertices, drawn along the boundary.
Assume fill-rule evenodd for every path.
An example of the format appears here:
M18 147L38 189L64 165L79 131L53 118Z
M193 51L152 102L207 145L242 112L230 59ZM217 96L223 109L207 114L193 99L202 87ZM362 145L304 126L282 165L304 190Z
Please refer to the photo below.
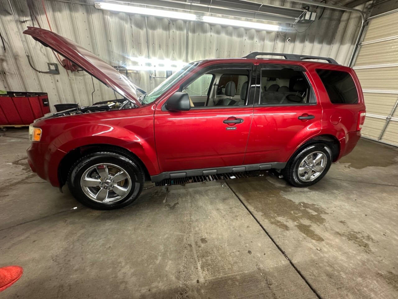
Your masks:
M277 25L240 21L240 20L232 20L232 19L224 19L224 18L217 18L217 17L211 17L211 16L199 16L199 15L188 14L188 13L184 13L184 12L174 12L171 10L159 10L159 9L144 8L144 7L137 7L137 6L113 4L113 3L107 3L107 2L95 2L95 6L98 9L113 10L113 11L117 11L117 12L129 12L131 14L144 14L144 15L148 15L148 16L157 16L157 17L189 20L189 21L199 21L199 22L220 24L220 25L226 25L226 26L253 28L253 29L258 29L258 30L269 30L269 31L279 30L279 26L277 26Z

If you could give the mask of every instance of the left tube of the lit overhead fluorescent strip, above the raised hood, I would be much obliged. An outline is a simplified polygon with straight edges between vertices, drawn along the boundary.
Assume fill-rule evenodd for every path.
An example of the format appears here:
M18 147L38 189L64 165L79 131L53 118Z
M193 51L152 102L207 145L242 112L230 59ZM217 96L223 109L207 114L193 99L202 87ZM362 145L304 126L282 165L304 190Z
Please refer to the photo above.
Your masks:
M146 14L149 16L190 20L190 21L196 20L196 16L194 14L186 14L184 12L173 12L171 10L159 10L159 9L144 8L137 6L113 4L107 2L95 2L95 6L96 8L99 9L113 10L116 12L129 12L131 14Z

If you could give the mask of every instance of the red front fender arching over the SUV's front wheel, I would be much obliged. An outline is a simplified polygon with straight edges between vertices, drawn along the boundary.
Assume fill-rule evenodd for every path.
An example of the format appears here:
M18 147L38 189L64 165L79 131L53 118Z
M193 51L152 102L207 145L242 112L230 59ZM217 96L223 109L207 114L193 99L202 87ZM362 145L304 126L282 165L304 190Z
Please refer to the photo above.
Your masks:
M145 139L125 127L90 123L65 130L51 144L65 153L91 144L119 146L135 154L150 175L159 173L153 134L152 138Z

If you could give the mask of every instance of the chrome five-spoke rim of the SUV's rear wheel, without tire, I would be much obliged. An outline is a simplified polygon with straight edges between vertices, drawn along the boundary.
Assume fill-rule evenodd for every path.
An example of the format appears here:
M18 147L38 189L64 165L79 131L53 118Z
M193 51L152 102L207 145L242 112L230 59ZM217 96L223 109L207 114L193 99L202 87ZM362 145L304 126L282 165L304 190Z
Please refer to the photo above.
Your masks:
M305 182L314 181L324 171L327 161L322 151L310 153L298 165L298 177Z

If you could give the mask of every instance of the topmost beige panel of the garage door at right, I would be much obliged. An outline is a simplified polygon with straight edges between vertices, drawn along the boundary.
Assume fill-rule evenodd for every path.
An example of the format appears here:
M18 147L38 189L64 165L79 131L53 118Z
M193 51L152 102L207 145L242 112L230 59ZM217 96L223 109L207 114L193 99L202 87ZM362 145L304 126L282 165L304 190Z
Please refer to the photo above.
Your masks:
M375 39L390 37L397 34L397 14L390 14L384 17L373 19L369 22L369 28L363 42Z

